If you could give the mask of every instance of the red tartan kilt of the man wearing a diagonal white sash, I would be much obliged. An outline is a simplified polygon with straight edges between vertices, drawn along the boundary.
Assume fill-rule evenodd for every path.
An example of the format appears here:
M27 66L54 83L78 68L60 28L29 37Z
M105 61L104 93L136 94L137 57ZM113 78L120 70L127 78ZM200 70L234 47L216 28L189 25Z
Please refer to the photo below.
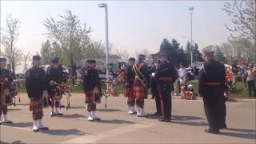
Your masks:
M136 99L147 98L147 89L141 82L139 82L138 78L135 78L134 80L133 93Z

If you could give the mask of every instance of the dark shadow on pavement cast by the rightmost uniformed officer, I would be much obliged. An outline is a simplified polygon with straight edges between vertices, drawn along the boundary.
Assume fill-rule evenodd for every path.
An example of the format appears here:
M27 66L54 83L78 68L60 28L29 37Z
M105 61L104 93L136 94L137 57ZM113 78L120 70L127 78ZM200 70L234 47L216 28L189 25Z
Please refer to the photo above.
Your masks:
M246 129L227 129L232 132L221 131L221 135L226 135L236 138L246 138L246 139L256 139L256 130L246 130ZM255 140L256 142L256 140Z

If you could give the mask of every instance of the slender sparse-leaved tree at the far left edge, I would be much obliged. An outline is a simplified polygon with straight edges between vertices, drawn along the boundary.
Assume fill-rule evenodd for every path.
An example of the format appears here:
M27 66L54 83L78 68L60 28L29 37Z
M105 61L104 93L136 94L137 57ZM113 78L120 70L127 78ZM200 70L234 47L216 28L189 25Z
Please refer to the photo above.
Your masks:
M8 58L14 74L16 67L21 65L22 61L22 50L19 50L15 46L16 42L18 42L20 23L18 18L12 18L11 14L8 14L6 28L1 38L1 44L4 46L6 58Z

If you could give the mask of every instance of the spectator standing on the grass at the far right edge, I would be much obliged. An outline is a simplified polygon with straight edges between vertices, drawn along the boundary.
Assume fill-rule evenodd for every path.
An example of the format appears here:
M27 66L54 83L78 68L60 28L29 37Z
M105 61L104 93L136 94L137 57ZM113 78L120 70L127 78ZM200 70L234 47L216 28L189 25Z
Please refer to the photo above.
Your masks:
M256 89L255 89L255 80L256 76L253 71L253 66L249 66L249 69L246 71L246 82L249 90L249 97L252 96L252 91L254 91L254 97L256 97Z

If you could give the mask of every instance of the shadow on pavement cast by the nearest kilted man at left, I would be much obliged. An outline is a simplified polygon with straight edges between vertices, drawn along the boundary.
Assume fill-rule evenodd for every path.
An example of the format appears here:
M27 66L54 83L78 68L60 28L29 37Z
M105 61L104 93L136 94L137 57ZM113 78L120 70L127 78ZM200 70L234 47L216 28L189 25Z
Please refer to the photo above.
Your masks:
M77 129L70 129L70 130L41 130L44 134L50 134L50 135L85 135L86 133L77 130Z

